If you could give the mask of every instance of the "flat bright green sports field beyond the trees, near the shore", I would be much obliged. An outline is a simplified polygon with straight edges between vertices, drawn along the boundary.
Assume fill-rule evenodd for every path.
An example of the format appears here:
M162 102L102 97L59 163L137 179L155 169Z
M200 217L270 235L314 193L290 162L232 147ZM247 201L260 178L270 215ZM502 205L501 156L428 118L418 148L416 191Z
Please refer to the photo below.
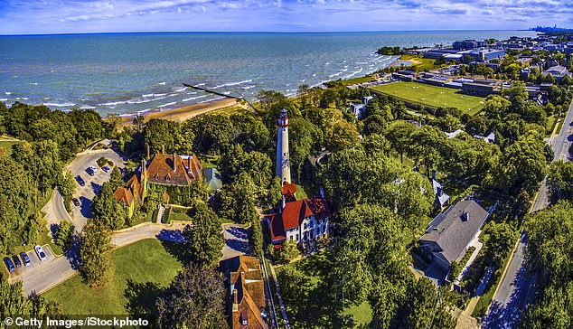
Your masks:
M371 88L383 94L430 108L458 108L474 116L484 108L484 98L465 95L458 89L418 82L399 81Z

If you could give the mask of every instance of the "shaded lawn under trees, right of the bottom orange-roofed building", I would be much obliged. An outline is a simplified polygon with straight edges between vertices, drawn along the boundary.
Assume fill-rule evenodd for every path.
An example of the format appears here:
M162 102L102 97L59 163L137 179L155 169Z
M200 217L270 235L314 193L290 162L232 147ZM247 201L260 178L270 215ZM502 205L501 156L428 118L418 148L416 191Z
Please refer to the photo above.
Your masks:
M361 305L342 308L341 295L336 294L331 278L331 261L327 251L302 258L285 266L275 268L277 280L285 302L286 314L293 328L341 327L352 315L354 324L371 322L371 307ZM302 286L293 287L287 282L286 272L298 270L305 277ZM295 290L295 291L293 291Z

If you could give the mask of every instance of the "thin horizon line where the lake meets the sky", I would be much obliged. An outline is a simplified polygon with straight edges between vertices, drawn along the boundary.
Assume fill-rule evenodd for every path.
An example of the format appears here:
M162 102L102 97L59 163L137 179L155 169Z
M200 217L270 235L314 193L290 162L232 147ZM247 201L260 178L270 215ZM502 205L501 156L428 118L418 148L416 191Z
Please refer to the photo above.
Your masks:
M81 35L81 34L149 34L149 33L391 33L391 32L464 32L464 31L531 31L531 29L430 29L430 30L367 30L367 31L118 31L118 32L76 32L76 33L11 33L0 36L47 36L47 35Z

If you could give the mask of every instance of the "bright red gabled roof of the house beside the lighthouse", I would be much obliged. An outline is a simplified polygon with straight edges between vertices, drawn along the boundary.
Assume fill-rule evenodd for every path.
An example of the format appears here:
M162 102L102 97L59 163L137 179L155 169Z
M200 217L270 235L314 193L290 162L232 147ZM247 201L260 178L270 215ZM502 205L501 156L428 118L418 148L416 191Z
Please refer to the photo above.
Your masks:
M315 216L318 220L328 217L329 211L326 200L320 197L286 202L283 209L283 225L285 230L298 227L305 218Z

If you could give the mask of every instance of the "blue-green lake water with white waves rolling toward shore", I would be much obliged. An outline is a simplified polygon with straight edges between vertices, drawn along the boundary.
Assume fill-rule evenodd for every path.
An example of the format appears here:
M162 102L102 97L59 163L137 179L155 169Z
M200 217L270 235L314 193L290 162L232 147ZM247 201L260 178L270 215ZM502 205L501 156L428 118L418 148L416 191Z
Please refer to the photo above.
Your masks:
M533 36L529 31L384 33L109 33L0 36L0 101L128 114L218 97L201 85L254 99L305 83L359 77L396 58L381 46Z

